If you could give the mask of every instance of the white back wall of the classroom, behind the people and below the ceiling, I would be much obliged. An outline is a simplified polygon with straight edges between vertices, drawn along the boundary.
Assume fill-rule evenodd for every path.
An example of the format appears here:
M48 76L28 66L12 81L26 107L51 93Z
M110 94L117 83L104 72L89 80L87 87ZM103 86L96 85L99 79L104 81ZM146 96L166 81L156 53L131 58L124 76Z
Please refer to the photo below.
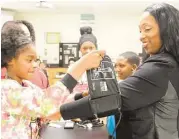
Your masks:
M58 45L45 42L45 32L60 32L61 42L78 42L80 33L80 14L34 14L17 13L15 19L30 21L36 31L36 46L39 55L44 55L47 48L48 60L58 62ZM95 14L94 35L98 47L105 49L114 57L124 51L141 52L138 31L139 15L117 13Z

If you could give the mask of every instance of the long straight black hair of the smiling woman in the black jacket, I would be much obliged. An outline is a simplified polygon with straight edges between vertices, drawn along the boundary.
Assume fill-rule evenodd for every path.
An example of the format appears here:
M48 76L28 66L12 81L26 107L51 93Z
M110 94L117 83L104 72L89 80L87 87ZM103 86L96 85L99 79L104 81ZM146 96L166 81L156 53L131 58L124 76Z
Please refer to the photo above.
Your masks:
M170 53L179 62L179 11L166 3L153 4L145 9L158 22L161 51Z

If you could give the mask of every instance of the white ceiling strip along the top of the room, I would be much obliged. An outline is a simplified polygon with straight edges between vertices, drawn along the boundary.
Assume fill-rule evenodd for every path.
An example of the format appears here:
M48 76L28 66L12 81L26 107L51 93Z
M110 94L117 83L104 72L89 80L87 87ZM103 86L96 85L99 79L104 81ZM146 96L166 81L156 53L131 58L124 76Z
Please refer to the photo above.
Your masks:
M127 14L142 12L156 0L46 0L53 8L36 7L39 0L1 0L1 8L15 12L46 13L108 13L125 11ZM157 0L163 2L164 0ZM168 0L179 9L179 0ZM130 10L129 10L130 9Z

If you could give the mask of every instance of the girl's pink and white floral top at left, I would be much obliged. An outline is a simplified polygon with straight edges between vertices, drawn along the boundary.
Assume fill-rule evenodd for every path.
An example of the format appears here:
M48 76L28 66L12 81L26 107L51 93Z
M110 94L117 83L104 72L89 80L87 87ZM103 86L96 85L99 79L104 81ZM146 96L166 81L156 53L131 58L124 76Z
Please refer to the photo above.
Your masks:
M42 90L25 80L23 86L15 80L1 80L1 139L31 138L31 118L54 113L73 97L61 82Z

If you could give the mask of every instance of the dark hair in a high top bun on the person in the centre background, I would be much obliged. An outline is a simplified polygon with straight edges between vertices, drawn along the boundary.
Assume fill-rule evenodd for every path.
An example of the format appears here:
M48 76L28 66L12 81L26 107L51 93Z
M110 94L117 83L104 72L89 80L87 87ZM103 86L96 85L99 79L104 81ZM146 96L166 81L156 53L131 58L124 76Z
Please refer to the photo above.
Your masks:
M81 37L79 39L79 50L81 48L81 45L84 42L87 42L87 41L92 42L96 46L96 48L97 48L97 39L93 35L91 27L89 27L89 26L81 27L80 28L80 34L81 34Z

